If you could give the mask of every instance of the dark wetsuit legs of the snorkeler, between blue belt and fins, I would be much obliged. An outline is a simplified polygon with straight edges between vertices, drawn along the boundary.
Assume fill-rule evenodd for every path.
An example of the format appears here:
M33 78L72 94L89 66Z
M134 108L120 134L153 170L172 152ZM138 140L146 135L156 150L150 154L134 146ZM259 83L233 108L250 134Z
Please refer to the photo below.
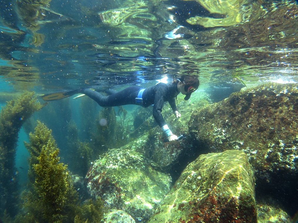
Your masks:
M126 104L135 104L135 99L138 96L140 89L141 87L139 86L132 86L109 96L103 96L97 91L90 89L82 89L80 90L80 93L86 94L91 99L96 101L101 107L113 107Z

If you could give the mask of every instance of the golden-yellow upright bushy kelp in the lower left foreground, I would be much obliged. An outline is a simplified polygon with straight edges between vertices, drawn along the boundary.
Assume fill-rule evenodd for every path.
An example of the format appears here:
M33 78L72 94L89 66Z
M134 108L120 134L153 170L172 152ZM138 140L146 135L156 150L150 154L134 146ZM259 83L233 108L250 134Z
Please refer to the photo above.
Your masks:
M22 195L24 212L15 222L68 223L100 222L100 200L80 206L67 165L59 162L59 149L51 130L38 121L34 133L30 133L29 190Z

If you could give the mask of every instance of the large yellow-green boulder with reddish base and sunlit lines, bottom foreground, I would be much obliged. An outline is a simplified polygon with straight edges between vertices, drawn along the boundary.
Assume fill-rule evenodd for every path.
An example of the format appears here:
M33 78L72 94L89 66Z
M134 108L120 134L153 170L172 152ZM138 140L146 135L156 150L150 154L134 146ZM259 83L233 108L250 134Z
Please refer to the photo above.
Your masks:
M246 154L209 153L190 163L150 218L155 222L257 222Z

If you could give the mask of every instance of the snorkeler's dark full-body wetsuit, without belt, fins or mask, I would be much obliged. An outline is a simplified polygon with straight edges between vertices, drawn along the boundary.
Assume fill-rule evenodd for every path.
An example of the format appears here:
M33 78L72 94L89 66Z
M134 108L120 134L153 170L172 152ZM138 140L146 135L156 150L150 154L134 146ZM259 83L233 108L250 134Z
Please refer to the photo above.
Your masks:
M141 89L143 88L132 86L109 96L102 96L97 91L91 89L80 89L79 93L89 96L101 107L112 107L136 104L136 98ZM178 94L177 82L171 84L158 83L144 90L142 94L143 107L153 104L153 117L160 127L166 124L161 114L164 102L168 101L173 111L177 111L175 98Z

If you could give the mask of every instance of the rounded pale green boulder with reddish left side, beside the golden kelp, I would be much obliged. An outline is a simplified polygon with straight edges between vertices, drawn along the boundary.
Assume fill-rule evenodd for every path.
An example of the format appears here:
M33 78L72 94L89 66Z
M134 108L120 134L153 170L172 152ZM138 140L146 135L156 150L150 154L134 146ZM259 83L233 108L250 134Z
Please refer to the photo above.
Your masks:
M171 177L156 164L129 149L111 149L96 160L85 180L89 194L108 208L121 209L146 221L170 190Z

